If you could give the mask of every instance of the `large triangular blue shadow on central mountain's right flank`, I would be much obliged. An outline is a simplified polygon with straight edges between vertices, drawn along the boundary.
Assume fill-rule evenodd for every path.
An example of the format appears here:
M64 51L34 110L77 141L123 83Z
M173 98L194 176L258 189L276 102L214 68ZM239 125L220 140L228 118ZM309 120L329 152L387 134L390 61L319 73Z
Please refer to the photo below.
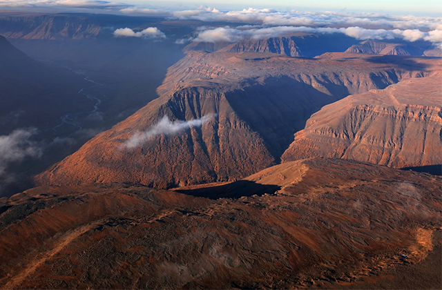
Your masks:
M294 133L305 128L309 117L327 104L349 95L345 86L317 80L332 95L291 77L269 77L265 84L249 81L242 90L226 93L233 110L265 140L276 162L294 140Z

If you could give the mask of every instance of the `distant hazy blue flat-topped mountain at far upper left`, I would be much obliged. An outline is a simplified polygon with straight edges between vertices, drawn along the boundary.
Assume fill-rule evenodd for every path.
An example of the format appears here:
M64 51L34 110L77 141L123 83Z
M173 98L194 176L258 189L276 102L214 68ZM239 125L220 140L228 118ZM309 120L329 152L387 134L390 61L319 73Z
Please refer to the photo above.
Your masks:
M1 12L0 35L8 39L90 40L111 39L117 28L142 30L157 27L175 37L182 37L193 29L186 21L176 23L164 17L135 17L91 13L20 13ZM192 23L194 24L194 23ZM73 44L75 45L75 44ZM60 53L60 52L58 52Z

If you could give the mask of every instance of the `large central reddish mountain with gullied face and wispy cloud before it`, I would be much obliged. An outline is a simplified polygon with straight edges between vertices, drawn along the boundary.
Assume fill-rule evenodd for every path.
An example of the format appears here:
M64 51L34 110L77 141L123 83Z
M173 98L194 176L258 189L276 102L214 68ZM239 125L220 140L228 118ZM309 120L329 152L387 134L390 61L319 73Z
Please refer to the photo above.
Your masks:
M40 184L128 181L161 188L236 180L278 161L293 134L321 106L427 75L435 65L427 59L345 54L296 59L191 52L170 68L159 99L36 179ZM211 114L216 115L202 126L173 136L157 129L164 116L191 121ZM146 131L146 142L126 148Z

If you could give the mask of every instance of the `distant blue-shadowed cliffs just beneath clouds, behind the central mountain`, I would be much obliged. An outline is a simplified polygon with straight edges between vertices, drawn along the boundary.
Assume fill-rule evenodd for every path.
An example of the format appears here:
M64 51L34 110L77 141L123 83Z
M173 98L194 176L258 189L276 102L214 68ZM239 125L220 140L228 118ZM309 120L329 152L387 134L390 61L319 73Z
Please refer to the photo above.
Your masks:
M202 50L205 52L271 52L289 57L316 57L325 52L343 52L356 43L345 35L314 35L299 32L282 37L265 39L244 39L236 43L227 42L192 42L184 52Z

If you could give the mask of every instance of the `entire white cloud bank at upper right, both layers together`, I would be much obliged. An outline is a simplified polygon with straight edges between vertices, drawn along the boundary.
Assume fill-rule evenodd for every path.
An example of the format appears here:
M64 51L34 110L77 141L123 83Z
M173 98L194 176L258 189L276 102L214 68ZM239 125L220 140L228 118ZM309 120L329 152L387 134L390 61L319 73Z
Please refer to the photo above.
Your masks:
M124 13L167 14L165 10L126 8ZM226 21L251 25L237 28L212 28L198 32L194 41L236 42L246 38L264 39L292 32L343 33L360 40L403 39L425 40L441 46L442 17L416 17L413 15L389 15L380 13L307 12L291 10L281 12L272 9L243 9L220 11L200 6L194 10L169 11L171 19ZM369 27L370 29L364 28ZM180 43L182 43L181 41Z

